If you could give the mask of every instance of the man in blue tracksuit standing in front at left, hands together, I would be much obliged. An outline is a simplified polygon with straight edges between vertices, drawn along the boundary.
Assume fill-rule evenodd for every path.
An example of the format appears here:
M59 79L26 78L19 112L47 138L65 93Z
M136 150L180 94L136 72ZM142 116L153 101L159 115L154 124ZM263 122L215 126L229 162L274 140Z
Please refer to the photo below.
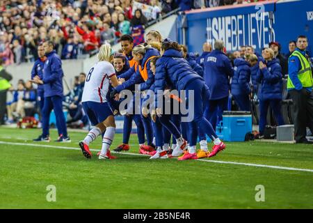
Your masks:
M65 117L62 109L63 101L63 70L62 62L56 51L54 43L51 41L43 44L47 61L43 70L42 79L39 76L33 77L33 82L43 84L45 91L45 102L42 109L42 134L33 141L50 141L49 137L49 118L51 110L54 109L56 115L56 126L58 128L58 140L60 142L70 142L67 136Z

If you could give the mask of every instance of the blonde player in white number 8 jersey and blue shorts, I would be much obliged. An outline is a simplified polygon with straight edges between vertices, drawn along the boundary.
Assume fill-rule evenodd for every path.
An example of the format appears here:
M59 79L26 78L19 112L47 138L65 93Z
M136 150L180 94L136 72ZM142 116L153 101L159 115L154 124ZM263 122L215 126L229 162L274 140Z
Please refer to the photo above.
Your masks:
M99 160L114 159L110 154L110 146L115 134L115 120L106 94L109 91L109 82L113 87L118 86L118 78L111 61L111 46L102 45L99 50L99 61L89 70L83 89L83 110L86 112L92 125L95 126L83 141L79 141L81 151L86 158L91 158L89 144L104 132L102 149Z

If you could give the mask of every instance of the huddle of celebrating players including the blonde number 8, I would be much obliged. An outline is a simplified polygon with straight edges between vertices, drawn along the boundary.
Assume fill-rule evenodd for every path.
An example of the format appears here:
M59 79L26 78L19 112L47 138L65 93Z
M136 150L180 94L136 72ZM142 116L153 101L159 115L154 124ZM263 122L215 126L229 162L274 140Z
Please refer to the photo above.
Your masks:
M92 156L89 145L101 135L99 159L115 158L110 153L115 114L124 114L124 128L122 144L114 151L129 150L133 120L137 126L139 153L150 155L150 159L194 160L223 151L225 144L204 117L209 87L197 72L197 65L185 59L186 49L169 39L162 40L158 31L147 33L146 40L146 43L134 46L131 36L124 35L120 38L120 53L113 53L110 45L100 47L99 61L90 68L83 89L83 110L94 126L79 142L83 155ZM172 90L179 94L171 93ZM125 91L131 91L133 95L125 98ZM136 95L139 95L139 103ZM127 100L126 109L120 109L123 100ZM181 109L174 112L183 101L188 114L183 114ZM191 112L192 118L186 118ZM214 143L211 151L207 136ZM196 151L198 138L202 144Z

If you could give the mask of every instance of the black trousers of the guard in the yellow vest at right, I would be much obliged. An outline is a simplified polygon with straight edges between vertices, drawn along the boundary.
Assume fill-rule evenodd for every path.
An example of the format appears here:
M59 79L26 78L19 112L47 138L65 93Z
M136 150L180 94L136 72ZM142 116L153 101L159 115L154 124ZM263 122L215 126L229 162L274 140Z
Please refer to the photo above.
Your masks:
M294 102L294 130L296 142L305 141L307 126L313 129L313 93L302 89L289 91Z

